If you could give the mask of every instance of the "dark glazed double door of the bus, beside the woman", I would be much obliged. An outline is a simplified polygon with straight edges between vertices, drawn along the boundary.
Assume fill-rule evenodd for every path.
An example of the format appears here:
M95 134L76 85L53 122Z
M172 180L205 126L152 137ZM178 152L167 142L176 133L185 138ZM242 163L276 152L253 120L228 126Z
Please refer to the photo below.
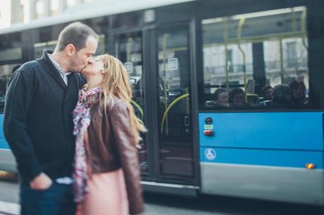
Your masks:
M144 188L194 190L189 25L115 34L113 50L130 74L132 105L148 129L139 149Z

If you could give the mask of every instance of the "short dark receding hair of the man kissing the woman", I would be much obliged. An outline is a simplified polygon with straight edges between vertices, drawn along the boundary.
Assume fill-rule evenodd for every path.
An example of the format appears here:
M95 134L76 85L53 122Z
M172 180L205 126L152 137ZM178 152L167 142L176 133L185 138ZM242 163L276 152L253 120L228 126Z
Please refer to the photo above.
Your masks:
M73 44L77 51L79 51L81 48L85 48L89 36L98 39L98 34L91 27L81 22L72 22L70 25L64 27L58 36L56 46L58 51L63 51L68 44Z

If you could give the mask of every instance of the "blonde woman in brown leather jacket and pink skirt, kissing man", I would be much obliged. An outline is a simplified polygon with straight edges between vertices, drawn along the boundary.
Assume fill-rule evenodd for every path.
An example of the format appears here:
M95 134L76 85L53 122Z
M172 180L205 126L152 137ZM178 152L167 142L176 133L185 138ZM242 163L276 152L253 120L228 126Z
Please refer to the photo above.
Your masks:
M139 131L146 129L130 105L128 74L123 63L108 54L82 74L87 85L73 111L77 213L140 214L144 204L136 146Z

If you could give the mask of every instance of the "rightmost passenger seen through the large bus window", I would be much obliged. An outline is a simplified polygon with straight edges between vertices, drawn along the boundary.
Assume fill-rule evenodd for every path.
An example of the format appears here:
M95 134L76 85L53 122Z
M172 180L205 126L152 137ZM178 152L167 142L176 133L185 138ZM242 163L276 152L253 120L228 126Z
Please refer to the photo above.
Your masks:
M293 80L289 84L291 91L291 106L292 108L304 108L309 106L306 100L306 86L304 82Z

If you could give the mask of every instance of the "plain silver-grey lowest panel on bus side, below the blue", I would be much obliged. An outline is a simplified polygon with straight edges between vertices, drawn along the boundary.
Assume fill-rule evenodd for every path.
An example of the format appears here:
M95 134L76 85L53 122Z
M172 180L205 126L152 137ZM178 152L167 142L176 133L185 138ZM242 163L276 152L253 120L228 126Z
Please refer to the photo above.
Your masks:
M201 193L324 204L323 169L201 162Z

